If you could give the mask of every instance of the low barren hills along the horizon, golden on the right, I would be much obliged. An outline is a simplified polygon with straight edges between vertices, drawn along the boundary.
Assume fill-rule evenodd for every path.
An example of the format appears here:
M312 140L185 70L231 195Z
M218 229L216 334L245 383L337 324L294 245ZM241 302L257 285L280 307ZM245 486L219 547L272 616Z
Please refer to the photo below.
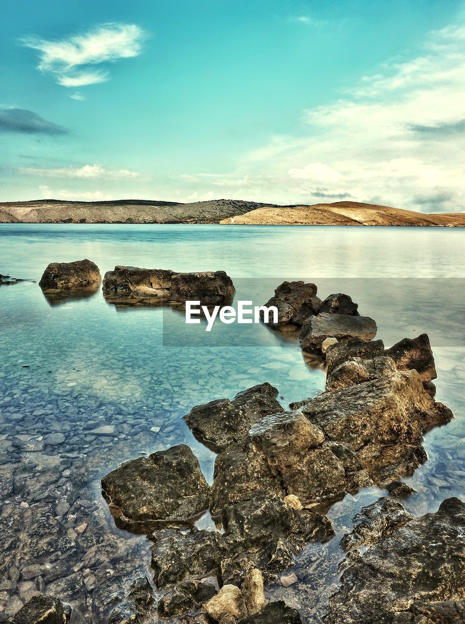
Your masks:
M465 227L465 213L433 215L359 202L278 206L242 200L0 203L0 223L230 223L247 225L424 225Z

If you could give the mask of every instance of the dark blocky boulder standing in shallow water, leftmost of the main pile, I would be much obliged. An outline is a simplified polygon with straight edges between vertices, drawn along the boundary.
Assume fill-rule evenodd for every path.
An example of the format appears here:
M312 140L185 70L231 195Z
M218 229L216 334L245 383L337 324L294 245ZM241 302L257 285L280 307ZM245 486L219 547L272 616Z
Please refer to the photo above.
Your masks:
M104 496L120 522L185 522L208 507L208 485L188 446L125 462L102 479Z

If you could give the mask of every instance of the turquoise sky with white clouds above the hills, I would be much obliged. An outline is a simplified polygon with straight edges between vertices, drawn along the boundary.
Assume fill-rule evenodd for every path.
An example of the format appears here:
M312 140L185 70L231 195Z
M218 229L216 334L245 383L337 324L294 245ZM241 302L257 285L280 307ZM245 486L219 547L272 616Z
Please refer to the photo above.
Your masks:
M0 201L465 212L465 0L2 0Z

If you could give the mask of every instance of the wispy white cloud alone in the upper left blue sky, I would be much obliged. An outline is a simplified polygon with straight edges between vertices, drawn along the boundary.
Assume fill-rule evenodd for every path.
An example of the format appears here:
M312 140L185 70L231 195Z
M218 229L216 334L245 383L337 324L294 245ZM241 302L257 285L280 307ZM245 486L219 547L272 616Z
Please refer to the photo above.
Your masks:
M37 69L51 72L64 87L82 87L108 80L108 70L94 66L139 56L144 39L135 24L111 23L59 41L27 36L20 42L39 52Z

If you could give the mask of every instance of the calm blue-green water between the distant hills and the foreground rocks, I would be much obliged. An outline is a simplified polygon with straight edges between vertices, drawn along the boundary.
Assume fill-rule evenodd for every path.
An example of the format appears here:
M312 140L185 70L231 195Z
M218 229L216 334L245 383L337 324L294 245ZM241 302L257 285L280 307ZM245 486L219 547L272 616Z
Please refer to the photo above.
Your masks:
M437 509L449 495L463 494L463 230L0 225L0 273L39 281L49 262L82 258L97 263L102 276L117 264L225 270L235 283L236 299L253 298L256 304L267 301L283 279L305 279L318 285L321 298L333 292L351 295L361 314L376 319L378 338L386 346L428 333L438 369L436 399L451 407L456 419L426 436L429 459L408 479L418 494L406 507L419 515ZM264 326L253 326L253 334L250 328L241 334L236 325L222 326L210 341L203 343L205 333L190 341L184 317L176 311L120 310L106 303L101 291L49 303L31 282L1 286L0 305L0 467L7 472L14 461L23 474L30 471L32 480L65 467L62 479L69 469L72 480L79 466L78 501L95 505L95 517L103 515L105 530L120 548L136 544L145 568L147 545L114 528L100 498L100 477L120 461L186 442L211 479L215 456L193 439L181 418L190 407L264 381L277 386L284 405L324 386L324 374L306 365L295 339ZM109 427L105 435L93 433L102 426ZM57 432L59 442L47 437ZM53 490L45 478L36 482L40 491ZM18 497L29 504L37 500L34 494L34 487L15 485L9 497L15 504ZM362 502L379 494L362 492L335 505L330 516L339 533ZM88 515L91 527L93 516ZM327 547L335 561L340 558L337 543L336 537ZM86 565L93 569L92 562ZM130 569L117 573L125 578ZM83 590L84 598L71 589L62 598L82 609L85 600L97 622L98 601L87 584L91 588ZM66 586L60 587L64 591ZM31 591L19 587L18 600ZM304 600L298 588L286 590L285 598L295 605Z

